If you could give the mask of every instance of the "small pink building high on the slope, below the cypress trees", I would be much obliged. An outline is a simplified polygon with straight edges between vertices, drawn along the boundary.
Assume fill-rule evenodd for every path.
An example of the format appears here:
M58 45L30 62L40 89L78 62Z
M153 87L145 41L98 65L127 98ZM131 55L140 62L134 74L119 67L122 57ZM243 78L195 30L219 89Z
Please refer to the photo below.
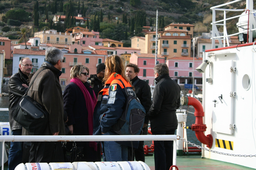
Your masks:
M83 47L87 47L89 45L98 45L102 46L102 38L100 38L100 33L91 31L91 32L79 32L72 33L72 44L78 44Z

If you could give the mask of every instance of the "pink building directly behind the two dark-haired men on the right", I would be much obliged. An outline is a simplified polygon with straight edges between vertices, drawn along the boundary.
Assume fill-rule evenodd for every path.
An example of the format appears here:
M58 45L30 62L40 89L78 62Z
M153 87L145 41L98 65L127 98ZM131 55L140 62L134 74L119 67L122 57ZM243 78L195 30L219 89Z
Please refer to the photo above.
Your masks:
M165 63L165 57L161 55L157 55L157 57L158 63ZM133 53L130 58L130 63L139 66L139 79L147 81L149 85L154 85L155 55Z

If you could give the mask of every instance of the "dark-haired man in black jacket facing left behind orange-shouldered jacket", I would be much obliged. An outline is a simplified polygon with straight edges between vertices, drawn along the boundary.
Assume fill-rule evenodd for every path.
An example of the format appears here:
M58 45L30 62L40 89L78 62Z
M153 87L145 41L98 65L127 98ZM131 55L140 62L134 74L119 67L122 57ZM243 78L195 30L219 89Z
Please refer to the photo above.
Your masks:
M135 88L135 94L138 97L141 105L145 108L146 113L149 111L151 106L151 91L147 82L138 78L139 67L136 64L129 63L126 65L126 76L132 82L132 86ZM143 125L143 135L147 135L148 132L148 117L146 115L144 125ZM134 149L134 155L136 161L145 162L144 155L144 141L139 141L139 146L137 149ZM132 158L133 159L133 158ZM132 160L131 160L132 161Z

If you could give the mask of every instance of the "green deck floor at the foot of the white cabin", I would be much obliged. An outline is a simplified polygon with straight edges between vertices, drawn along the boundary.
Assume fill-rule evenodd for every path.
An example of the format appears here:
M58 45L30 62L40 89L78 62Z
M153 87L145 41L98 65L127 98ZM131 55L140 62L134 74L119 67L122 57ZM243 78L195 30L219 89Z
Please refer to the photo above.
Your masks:
M154 156L146 156L145 163L155 170ZM255 170L241 165L201 158L201 156L177 156L179 170Z

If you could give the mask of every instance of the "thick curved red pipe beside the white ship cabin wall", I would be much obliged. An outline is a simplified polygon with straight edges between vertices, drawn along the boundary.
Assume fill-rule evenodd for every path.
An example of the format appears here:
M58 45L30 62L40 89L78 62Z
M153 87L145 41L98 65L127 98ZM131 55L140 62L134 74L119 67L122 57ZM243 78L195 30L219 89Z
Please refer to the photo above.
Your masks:
M195 117L196 121L195 124L192 124L191 130L195 131L198 141L203 144L206 144L208 148L211 148L213 143L213 138L211 134L204 135L204 131L206 131L206 124L203 123L204 117L204 109L202 104L193 97L182 97L182 105L191 105L195 108Z

